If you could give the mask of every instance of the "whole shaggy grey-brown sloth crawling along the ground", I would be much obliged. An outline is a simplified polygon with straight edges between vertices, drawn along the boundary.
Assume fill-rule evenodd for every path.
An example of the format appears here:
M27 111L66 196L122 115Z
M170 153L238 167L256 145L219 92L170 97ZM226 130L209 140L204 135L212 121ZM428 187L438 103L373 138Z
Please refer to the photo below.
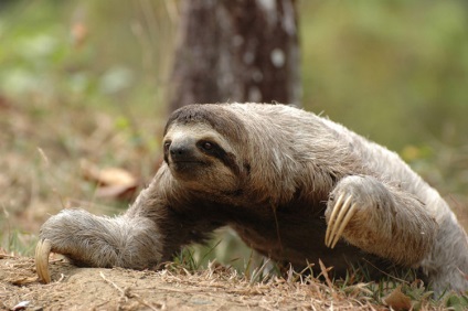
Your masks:
M189 105L163 137L164 161L126 213L64 210L41 227L77 266L151 269L228 226L253 249L337 277L416 268L435 291L468 289L468 243L436 190L394 152L329 119L285 105Z

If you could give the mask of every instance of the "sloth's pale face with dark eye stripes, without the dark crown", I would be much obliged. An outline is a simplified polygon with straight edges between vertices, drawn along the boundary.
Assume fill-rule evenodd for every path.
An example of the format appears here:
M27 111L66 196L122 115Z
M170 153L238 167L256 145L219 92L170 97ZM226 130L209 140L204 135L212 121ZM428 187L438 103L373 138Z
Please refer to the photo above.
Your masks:
M240 169L230 143L204 124L172 124L163 139L164 161L184 186L205 192L238 190Z

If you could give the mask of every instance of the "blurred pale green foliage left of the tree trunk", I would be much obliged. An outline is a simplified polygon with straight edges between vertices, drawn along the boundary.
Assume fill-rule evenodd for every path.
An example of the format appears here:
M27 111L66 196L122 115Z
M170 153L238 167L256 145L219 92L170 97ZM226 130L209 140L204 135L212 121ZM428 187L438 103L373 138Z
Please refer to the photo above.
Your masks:
M10 3L0 12L1 95L38 110L160 111L170 56L161 41L173 30L161 3Z

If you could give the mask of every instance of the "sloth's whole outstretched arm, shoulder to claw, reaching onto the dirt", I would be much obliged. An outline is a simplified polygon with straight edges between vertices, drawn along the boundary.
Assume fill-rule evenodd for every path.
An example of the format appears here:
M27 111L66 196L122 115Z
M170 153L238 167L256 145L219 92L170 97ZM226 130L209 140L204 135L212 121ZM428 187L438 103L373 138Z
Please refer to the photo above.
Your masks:
M164 172L159 172L121 216L63 210L49 218L41 227L35 255L42 280L50 281L50 251L79 266L146 269L170 260L185 244L203 242L219 224L174 213L167 200L169 183Z

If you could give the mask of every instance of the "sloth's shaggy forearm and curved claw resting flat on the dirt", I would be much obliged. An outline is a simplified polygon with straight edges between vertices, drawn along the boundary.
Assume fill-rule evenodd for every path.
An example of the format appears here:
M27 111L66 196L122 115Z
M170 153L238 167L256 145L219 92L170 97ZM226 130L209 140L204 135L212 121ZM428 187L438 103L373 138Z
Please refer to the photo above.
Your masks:
M36 247L40 278L50 282L50 251L88 267L150 268L161 259L161 236L150 218L95 216L83 210L64 210L41 227Z

